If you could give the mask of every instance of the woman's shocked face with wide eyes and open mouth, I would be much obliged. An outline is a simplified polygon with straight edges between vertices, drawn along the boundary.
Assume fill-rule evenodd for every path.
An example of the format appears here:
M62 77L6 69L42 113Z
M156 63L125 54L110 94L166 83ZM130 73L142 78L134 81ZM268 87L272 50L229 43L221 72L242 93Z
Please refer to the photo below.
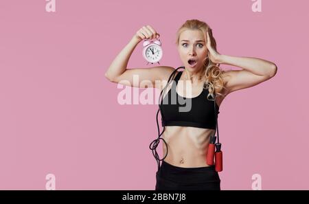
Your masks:
M178 52L188 71L196 72L203 68L207 56L204 34L201 30L185 30L179 37Z

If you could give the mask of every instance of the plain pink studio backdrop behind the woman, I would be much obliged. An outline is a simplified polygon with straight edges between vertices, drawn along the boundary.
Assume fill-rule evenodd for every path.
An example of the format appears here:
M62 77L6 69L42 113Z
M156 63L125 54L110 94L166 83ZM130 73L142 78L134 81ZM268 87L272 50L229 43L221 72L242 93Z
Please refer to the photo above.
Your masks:
M309 189L308 1L262 0L262 12L251 0L46 3L0 1L0 189L45 190L54 174L56 190L154 190L158 106L118 104L122 89L104 73L148 24L161 34L161 65L181 66L174 41L187 19L209 23L221 54L278 67L220 106L221 188L251 190L260 174L262 190ZM128 68L150 67L141 49Z

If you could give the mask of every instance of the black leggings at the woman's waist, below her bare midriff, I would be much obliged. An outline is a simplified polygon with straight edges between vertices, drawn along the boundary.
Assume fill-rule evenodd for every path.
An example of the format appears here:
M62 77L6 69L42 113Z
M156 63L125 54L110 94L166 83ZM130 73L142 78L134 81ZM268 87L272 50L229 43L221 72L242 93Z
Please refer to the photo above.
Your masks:
M155 190L220 190L214 166L182 168L162 161Z

